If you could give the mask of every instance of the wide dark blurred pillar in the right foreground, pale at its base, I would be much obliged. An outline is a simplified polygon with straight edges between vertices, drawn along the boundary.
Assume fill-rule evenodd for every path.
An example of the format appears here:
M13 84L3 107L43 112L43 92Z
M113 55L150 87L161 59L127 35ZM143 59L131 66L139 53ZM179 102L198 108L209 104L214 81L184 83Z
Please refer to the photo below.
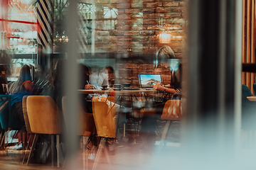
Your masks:
M191 0L183 169L231 169L241 115L242 1Z

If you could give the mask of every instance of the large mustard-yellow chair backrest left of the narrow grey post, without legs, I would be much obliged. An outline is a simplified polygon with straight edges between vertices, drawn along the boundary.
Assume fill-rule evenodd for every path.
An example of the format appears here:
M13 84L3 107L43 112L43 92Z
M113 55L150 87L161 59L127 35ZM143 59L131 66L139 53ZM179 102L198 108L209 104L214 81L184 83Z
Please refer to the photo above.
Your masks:
M50 96L28 96L27 113L31 132L60 134L60 111Z

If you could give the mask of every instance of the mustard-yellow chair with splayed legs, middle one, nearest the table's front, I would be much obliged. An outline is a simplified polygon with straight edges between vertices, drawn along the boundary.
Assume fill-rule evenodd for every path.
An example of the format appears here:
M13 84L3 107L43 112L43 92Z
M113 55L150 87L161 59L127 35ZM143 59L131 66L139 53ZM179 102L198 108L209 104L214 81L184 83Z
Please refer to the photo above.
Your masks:
M100 146L97 151L97 156L95 158L95 163L93 164L92 169L95 169L97 166L98 159L102 152L102 147L107 157L107 162L110 164L110 157L107 154L107 149L105 147L106 137L115 138L117 123L115 119L116 111L113 108L109 108L107 103L104 101L95 101L92 102L92 113L95 119L95 125L97 130L97 135L102 137L100 140Z

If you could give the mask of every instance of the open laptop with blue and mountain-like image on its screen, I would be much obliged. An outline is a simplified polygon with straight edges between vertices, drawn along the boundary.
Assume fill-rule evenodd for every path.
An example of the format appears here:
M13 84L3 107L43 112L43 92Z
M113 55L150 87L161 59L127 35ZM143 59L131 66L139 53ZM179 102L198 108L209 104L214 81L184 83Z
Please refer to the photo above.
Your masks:
M139 84L142 89L152 89L153 84L161 84L161 74L159 73L140 73Z

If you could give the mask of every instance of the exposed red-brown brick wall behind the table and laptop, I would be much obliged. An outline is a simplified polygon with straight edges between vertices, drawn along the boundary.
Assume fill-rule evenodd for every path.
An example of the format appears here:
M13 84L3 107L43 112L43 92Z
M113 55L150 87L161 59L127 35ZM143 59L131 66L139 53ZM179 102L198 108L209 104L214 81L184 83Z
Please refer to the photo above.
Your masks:
M181 58L183 42L183 1L174 0L97 0L95 20L95 50L127 54L134 52L155 54L163 45L169 45L176 57ZM104 9L117 9L117 16L106 18ZM162 20L161 20L162 18ZM171 35L171 41L161 43L158 35L164 31ZM154 55L149 55L154 57ZM139 86L139 72L156 72L152 62L139 61L137 57L117 63L117 82L129 82ZM163 71L170 74L169 71ZM170 76L164 75L169 83Z

